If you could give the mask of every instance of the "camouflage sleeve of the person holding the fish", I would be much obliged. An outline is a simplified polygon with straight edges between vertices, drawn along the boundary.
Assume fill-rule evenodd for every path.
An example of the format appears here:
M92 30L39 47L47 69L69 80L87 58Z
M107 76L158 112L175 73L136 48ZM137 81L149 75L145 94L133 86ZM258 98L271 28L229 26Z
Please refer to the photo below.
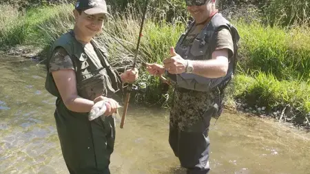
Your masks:
M49 72L55 72L59 69L74 69L72 60L63 47L56 48L50 58Z

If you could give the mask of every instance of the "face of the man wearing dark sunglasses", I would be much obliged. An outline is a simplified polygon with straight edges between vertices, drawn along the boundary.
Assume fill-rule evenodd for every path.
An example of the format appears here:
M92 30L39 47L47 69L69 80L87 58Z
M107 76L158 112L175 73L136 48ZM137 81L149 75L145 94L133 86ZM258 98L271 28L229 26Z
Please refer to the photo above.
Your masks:
M203 5L198 6L200 4ZM187 3L187 10L195 19L196 23L202 23L203 21L209 18L212 9L211 6L212 1L197 0L196 3L195 1L193 1L193 3Z

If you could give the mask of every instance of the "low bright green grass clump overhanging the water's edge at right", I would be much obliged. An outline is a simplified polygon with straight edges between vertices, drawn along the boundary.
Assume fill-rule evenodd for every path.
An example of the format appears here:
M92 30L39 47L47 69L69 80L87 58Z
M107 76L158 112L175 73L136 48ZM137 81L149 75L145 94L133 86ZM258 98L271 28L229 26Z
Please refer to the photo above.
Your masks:
M235 79L234 98L247 103L249 107L266 107L267 111L293 107L295 122L302 123L310 113L310 83L277 80L271 74L259 72L255 75L240 74Z

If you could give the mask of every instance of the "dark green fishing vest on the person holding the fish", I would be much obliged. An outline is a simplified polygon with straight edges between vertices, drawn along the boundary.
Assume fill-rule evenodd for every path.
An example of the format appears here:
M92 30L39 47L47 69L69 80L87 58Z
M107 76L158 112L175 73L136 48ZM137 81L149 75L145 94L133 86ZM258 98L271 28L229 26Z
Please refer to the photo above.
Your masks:
M54 49L63 47L74 65L78 95L88 100L94 100L100 95L111 97L118 89L122 89L121 78L107 63L108 54L105 47L99 46L94 39L90 43L98 58L92 56L92 52L85 49L79 41L76 41L72 30L63 34L51 47L47 58L47 69L49 69L50 58ZM53 96L60 98L52 74L49 72L45 80L45 89Z

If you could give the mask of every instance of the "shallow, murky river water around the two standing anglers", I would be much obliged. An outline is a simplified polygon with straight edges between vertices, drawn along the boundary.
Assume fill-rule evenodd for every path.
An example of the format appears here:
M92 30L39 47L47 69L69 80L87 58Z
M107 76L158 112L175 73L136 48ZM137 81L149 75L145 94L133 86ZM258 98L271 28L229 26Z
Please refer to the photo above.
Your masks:
M68 174L54 122L55 98L43 65L0 56L0 173ZM168 143L165 109L130 105L116 130L115 174L182 174ZM310 173L310 136L273 122L225 111L212 121L211 173Z

